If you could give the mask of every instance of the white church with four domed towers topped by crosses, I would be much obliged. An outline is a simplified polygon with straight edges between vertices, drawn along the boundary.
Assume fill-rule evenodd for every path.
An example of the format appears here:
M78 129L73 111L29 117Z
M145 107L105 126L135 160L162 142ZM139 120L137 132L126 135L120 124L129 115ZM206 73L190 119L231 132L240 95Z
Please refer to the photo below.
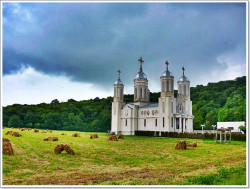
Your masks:
M135 131L161 132L193 132L192 101L190 100L190 81L184 74L178 80L178 95L174 97L174 76L168 70L160 77L161 96L158 103L150 103L148 80L142 70L134 78L134 102L126 103L123 100L124 85L120 79L114 84L114 100L112 102L111 131L116 134L134 135Z

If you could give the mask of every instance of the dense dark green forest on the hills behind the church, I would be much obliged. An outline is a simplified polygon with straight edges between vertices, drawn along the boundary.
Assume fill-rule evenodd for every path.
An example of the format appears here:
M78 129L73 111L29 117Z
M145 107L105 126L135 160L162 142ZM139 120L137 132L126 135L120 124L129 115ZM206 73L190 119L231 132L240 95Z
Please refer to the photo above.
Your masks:
M246 121L246 76L235 80L191 87L194 129L212 129L217 121ZM175 97L177 91L175 90ZM158 102L160 93L151 93L150 101ZM38 129L106 132L111 129L113 98L98 97L76 101L69 99L37 105L13 104L3 107L3 126ZM132 102L133 95L124 95Z

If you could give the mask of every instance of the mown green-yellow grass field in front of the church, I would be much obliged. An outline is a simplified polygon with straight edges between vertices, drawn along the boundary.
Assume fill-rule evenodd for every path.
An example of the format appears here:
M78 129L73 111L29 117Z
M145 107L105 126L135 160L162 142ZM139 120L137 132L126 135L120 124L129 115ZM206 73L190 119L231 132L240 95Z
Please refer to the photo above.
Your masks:
M5 135L9 130L22 137ZM61 135L67 133L67 135ZM215 144L212 140L185 139L198 147L175 150L181 139L125 136L108 141L108 135L71 131L34 133L3 129L14 156L3 155L4 185L245 185L246 142ZM59 141L43 141L58 137ZM57 144L75 151L54 154Z

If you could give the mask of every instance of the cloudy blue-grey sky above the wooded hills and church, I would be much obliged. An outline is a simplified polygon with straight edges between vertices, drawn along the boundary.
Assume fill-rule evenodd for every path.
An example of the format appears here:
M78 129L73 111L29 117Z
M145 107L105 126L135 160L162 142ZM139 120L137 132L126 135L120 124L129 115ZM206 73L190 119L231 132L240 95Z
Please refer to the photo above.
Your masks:
M151 92L246 75L245 3L3 3L3 105L125 93L144 59ZM176 88L176 86L175 86Z

